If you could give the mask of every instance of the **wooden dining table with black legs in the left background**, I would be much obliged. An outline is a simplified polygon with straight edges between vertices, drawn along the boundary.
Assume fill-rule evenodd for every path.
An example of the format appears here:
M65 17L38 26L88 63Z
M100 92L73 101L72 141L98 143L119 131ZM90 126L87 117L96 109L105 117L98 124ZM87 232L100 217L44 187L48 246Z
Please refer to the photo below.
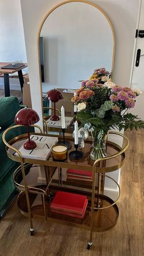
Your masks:
M23 93L23 84L24 84L24 79L23 79L23 73L22 70L23 68L27 67L27 63L23 63L24 65L19 68L15 69L7 69L7 68L2 68L5 65L12 64L12 62L0 62L0 77L4 77L4 92L5 92L5 97L10 96L10 79L9 79L9 74L13 74L15 72L18 72L18 78L20 80L20 86L21 86L21 92Z

